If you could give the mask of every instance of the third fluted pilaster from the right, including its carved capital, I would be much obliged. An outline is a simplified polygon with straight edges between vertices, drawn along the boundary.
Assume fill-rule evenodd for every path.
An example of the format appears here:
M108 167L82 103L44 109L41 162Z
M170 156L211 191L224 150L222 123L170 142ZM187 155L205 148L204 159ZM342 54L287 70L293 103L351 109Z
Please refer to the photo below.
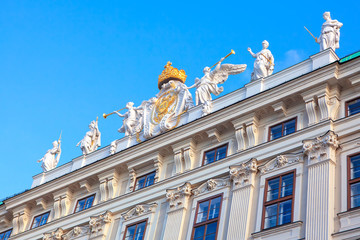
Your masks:
M167 189L166 198L169 201L169 210L165 225L164 237L166 240L182 240L186 237L187 210L189 197L191 195L191 184Z

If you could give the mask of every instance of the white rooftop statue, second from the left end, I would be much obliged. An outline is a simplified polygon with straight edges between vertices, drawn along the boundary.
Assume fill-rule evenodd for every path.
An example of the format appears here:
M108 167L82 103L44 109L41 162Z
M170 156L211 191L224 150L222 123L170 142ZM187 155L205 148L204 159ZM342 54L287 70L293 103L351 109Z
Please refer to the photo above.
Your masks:
M80 145L84 155L96 151L98 147L101 146L101 133L99 131L98 118L96 118L96 121L91 121L89 129L90 131L85 134L85 137L76 144L77 147Z

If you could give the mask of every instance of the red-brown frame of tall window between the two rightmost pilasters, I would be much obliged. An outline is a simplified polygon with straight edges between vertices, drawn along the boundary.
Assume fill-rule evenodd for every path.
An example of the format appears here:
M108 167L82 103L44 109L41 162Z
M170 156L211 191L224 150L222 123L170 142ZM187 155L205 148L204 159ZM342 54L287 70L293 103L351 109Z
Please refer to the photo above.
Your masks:
M283 197L283 198L278 198L278 199L275 199L275 200L271 200L269 202L266 201L267 199L267 194L268 194L268 182L270 180L273 180L275 178L281 178L283 176L286 176L286 175L289 175L289 174L293 174L293 191L292 191L292 195L289 195L289 196L286 196L286 197ZM271 177L268 177L265 179L265 188L264 188L264 199L263 199L263 204L262 204L262 208L263 208L263 211L262 211L262 216L261 216L261 230L267 230L267 229L271 229L271 228L275 228L275 227L279 227L279 226L283 226L285 224L289 224L289 223L293 223L294 222L294 202L295 202L295 188L296 188L296 169L293 169L293 170L290 170L290 171L287 171L287 172L284 172L284 173L280 173L280 174L277 174L275 176L271 176ZM279 186L280 186L280 183L279 183ZM279 195L280 195L281 191L279 191ZM279 225L278 224L278 220L279 220L279 211L277 210L277 219L276 219L276 226L273 226L273 227L269 227L269 228L264 228L265 226L265 210L266 210L266 207L267 206L270 206L270 205L274 205L274 204L279 204L281 202L285 202L285 201L288 201L288 200L292 200L291 201L291 221L289 223L284 223L284 224L281 224Z

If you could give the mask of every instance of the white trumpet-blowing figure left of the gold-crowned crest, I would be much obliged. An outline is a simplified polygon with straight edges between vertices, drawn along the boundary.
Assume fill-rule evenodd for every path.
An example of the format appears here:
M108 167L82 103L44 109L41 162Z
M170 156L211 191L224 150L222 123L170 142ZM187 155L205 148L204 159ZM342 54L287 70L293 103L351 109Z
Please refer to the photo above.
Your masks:
M142 105L143 104L139 107L134 107L133 102L128 102L126 104L128 111L125 114L114 111L114 113L124 118L123 125L118 129L118 132L125 133L125 136L131 136L140 131L143 122Z

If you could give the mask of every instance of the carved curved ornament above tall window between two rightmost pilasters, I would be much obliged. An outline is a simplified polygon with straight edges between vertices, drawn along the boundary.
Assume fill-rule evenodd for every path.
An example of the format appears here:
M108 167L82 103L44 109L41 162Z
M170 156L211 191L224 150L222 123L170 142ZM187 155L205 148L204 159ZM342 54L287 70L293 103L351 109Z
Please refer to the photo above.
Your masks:
M302 153L284 154L267 161L264 165L259 166L258 169L260 174L263 175L276 169L301 162L303 162Z

